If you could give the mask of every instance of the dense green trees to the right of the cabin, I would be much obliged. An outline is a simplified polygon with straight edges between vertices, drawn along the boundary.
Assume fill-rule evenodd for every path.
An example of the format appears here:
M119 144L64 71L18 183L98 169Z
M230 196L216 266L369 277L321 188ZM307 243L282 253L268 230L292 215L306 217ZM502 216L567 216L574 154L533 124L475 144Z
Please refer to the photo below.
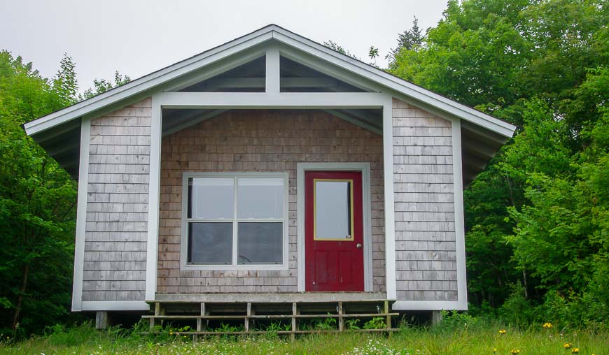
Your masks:
M451 0L391 61L518 127L465 191L470 301L517 322L609 316L607 23L605 1Z

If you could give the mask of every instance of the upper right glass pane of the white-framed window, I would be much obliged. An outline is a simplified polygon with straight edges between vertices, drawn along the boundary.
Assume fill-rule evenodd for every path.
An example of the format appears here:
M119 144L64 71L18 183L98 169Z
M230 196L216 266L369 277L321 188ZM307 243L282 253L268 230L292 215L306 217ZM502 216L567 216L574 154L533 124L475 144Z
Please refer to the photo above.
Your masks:
M283 179L237 179L238 218L283 219Z

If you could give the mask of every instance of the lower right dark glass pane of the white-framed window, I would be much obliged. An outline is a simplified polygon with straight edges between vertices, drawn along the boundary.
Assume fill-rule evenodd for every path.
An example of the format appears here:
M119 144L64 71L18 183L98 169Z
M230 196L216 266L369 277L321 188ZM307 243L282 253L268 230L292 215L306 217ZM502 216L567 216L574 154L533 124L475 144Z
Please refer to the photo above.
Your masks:
M239 223L237 263L281 263L283 223Z

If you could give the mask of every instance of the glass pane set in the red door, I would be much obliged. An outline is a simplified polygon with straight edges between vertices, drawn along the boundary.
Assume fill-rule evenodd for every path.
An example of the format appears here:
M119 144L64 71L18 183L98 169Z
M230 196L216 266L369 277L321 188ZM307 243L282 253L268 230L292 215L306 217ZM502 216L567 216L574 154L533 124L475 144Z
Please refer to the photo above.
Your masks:
M315 238L352 239L351 182L314 180Z

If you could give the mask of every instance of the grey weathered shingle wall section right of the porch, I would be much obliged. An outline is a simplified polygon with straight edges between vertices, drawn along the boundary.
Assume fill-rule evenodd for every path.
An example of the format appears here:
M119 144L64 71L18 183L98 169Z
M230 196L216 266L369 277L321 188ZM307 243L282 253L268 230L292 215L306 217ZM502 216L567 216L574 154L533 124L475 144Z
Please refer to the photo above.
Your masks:
M393 100L398 300L457 300L451 122Z

